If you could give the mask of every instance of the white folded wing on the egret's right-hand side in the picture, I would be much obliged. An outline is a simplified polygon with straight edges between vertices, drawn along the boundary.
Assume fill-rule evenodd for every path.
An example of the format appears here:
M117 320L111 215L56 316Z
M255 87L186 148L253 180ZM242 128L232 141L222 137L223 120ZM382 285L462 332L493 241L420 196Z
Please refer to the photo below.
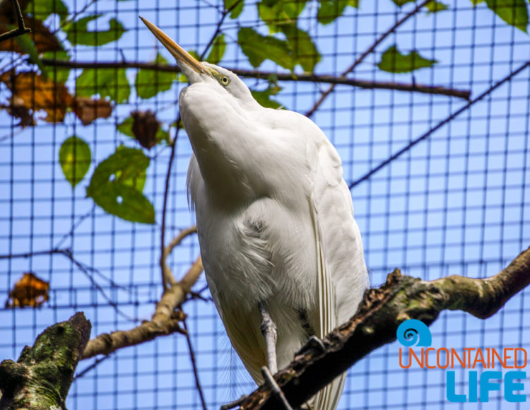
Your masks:
M318 258L318 314L313 316L317 322L313 326L322 338L355 313L368 282L341 159L322 131L318 131L312 133L314 140L308 143L308 158L314 172L310 206ZM345 380L343 373L317 393L314 409L335 409Z

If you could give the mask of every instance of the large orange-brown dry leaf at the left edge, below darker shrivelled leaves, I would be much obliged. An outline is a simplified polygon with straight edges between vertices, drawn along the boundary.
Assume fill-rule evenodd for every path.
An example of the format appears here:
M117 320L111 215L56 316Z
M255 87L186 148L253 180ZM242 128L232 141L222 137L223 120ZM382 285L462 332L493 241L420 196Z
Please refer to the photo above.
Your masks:
M15 74L13 71L0 76L0 81L11 90L12 98L18 101L18 107L27 110L44 111L47 122L63 122L67 107L72 98L66 87L45 80L33 71Z

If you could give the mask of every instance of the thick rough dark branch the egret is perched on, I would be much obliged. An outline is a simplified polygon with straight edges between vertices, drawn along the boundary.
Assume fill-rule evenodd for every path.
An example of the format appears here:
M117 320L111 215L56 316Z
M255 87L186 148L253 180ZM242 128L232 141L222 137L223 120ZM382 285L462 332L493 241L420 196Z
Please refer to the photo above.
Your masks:
M463 310L485 319L529 283L530 248L488 279L448 276L422 281L401 276L396 269L383 286L365 292L349 322L323 339L324 352L308 347L274 378L290 405L297 408L368 353L394 341L404 320L418 319L430 325L445 309ZM281 409L281 403L270 387L263 385L240 409Z

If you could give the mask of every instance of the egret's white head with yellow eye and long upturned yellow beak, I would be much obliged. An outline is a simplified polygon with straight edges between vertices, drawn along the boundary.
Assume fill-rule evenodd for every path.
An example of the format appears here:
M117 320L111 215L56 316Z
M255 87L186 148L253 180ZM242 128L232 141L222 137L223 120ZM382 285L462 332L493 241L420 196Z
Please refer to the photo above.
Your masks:
M196 60L191 54L160 30L160 28L151 23L151 21L148 21L143 17L140 18L147 28L151 30L151 33L153 33L153 35L155 35L155 37L163 44L167 51L175 57L182 73L187 76L190 83L218 83L236 98L251 98L254 100L245 83L232 73L232 71L223 69L223 67L216 66L215 64L207 63L206 61L201 62Z

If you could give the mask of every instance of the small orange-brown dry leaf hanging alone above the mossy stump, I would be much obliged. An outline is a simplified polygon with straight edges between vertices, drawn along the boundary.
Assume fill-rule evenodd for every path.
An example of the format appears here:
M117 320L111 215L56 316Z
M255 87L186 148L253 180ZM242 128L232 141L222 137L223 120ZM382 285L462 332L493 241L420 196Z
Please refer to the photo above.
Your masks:
M9 292L6 307L39 307L49 299L49 283L26 272Z

